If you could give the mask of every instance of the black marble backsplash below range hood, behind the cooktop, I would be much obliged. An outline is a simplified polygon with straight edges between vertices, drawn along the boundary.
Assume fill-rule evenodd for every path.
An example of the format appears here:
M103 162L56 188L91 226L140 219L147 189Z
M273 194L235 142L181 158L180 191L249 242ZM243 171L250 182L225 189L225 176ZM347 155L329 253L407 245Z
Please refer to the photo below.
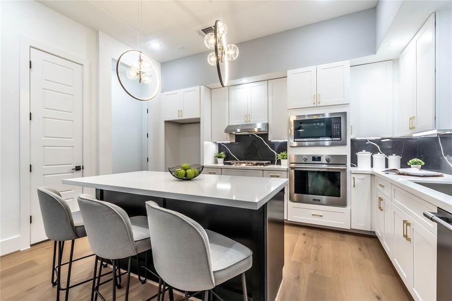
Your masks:
M224 143L224 145L218 143L218 152L225 152L226 158L224 161L236 160L231 155L232 152L238 160L270 161L271 164L275 164L275 154L268 146L276 154L287 152L287 141L269 141L268 134L259 134L258 136L265 142L255 135L236 135L235 142ZM230 149L230 152L226 147ZM276 164L281 164L280 160L277 160Z

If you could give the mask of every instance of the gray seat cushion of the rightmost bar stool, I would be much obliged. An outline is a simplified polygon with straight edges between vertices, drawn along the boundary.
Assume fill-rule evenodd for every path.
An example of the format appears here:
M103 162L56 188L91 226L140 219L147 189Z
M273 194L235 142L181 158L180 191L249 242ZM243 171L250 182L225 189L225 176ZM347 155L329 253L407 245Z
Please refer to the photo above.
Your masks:
M252 251L226 236L206 229L215 285L221 284L251 268Z

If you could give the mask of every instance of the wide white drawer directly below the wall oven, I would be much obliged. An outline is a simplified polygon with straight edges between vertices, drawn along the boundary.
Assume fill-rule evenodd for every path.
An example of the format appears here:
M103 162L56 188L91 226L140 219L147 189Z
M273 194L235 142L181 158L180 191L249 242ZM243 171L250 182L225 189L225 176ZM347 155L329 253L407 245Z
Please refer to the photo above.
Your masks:
M350 209L288 202L287 220L350 229Z

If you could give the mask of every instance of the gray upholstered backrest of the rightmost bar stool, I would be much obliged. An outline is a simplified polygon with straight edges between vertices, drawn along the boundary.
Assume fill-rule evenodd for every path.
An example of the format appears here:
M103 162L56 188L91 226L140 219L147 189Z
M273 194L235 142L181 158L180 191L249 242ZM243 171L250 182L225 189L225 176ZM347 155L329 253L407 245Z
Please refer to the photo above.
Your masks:
M146 202L154 266L173 287L199 291L215 286L209 238L200 224L176 211Z

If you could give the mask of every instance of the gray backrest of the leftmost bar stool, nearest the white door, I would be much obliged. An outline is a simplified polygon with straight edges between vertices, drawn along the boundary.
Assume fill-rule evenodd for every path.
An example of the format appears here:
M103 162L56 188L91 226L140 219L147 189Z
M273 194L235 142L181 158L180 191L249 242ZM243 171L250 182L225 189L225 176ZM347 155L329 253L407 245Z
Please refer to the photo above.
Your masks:
M57 190L38 187L38 200L44 231L49 239L63 241L78 238L71 209Z

